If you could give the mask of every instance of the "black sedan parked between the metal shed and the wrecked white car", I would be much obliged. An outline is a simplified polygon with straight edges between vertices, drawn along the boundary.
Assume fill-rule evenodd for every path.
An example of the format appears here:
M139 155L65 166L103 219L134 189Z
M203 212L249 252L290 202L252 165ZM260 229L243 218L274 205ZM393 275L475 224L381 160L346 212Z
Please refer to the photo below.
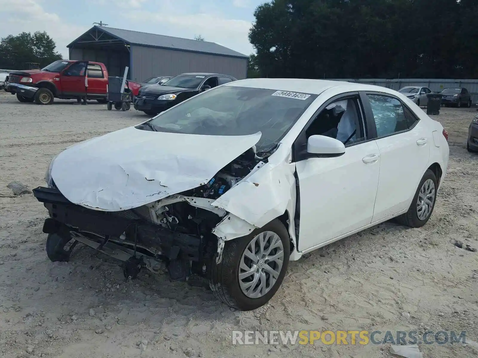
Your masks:
M232 81L237 79L227 74L178 74L164 85L141 87L134 99L134 109L155 116L192 96Z

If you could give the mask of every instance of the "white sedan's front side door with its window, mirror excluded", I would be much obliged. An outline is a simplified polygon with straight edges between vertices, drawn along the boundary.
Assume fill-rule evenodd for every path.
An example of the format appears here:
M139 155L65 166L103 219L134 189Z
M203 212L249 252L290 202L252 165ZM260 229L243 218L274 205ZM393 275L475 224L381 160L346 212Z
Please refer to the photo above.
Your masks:
M345 108L345 111L343 109ZM334 158L296 158L299 181L298 250L326 242L368 225L379 182L380 155L366 140L359 96L333 99L304 128L294 146L311 135L345 143L345 154Z

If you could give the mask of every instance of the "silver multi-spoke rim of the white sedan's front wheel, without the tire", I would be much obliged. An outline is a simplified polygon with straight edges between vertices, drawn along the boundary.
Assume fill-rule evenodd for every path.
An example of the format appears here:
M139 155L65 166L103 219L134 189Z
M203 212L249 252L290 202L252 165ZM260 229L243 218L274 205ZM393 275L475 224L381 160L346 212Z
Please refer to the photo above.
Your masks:
M239 263L239 286L249 298L267 294L279 278L284 261L282 240L275 232L256 235L247 245Z

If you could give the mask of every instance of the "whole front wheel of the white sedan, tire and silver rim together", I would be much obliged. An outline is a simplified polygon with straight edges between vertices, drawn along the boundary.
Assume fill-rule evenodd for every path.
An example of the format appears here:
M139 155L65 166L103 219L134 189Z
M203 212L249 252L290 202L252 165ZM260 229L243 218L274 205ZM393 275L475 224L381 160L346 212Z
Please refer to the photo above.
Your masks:
M227 241L222 260L213 258L209 287L230 307L250 311L265 305L287 271L289 233L278 219L249 235Z

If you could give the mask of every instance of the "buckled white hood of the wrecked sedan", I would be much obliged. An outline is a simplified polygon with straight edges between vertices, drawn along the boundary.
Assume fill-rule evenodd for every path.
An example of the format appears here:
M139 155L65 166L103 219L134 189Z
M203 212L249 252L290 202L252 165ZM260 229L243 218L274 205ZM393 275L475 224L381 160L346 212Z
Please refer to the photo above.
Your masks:
M51 176L71 202L120 211L205 184L254 146L248 136L203 136L121 129L66 148Z

